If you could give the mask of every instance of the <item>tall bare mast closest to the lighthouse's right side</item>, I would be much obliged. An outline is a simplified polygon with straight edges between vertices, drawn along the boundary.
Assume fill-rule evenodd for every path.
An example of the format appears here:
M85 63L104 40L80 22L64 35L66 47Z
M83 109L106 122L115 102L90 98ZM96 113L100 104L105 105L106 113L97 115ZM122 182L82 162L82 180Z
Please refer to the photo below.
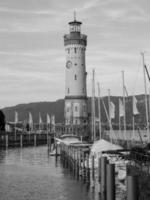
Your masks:
M95 141L95 70L93 69L92 74L92 137L93 141Z

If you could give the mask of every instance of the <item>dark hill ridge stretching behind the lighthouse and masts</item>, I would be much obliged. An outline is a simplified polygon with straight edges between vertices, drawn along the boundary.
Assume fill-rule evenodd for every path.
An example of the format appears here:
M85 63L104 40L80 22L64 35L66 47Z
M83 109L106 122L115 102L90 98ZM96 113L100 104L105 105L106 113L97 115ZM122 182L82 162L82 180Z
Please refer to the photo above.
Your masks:
M111 101L115 104L115 119L112 120L113 123L118 123L119 117L119 98L117 96L111 96ZM144 95L136 96L138 103L137 108L140 112L140 115L136 116L136 122L144 124L145 123L145 103ZM108 110L108 97L102 98L106 109ZM96 98L96 116L98 115L98 105ZM88 110L91 113L91 98L88 98ZM46 114L54 114L56 116L56 122L64 121L64 99L57 100L55 102L35 102L29 104L19 104L13 107L7 107L3 109L3 112L6 116L7 121L14 121L15 111L19 114L19 120L28 119L28 113L31 112L33 115L34 122L38 122L39 112L41 113L42 119L46 122ZM101 115L102 121L106 122L107 117L105 114L104 106L101 101ZM132 96L126 98L126 119L128 124L132 124Z

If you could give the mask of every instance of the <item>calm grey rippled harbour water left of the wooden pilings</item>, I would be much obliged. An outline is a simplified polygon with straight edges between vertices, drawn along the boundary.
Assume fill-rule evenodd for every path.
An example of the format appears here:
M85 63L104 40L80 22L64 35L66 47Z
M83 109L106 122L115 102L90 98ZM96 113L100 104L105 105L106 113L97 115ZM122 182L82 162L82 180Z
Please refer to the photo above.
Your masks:
M47 148L0 150L0 200L97 200Z

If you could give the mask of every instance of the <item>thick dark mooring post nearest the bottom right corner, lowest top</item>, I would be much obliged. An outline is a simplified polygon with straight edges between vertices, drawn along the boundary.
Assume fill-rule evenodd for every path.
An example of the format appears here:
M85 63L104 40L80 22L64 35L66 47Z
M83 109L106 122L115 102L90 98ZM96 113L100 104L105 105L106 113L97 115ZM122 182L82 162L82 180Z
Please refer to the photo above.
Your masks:
M127 176L127 200L138 199L138 176Z

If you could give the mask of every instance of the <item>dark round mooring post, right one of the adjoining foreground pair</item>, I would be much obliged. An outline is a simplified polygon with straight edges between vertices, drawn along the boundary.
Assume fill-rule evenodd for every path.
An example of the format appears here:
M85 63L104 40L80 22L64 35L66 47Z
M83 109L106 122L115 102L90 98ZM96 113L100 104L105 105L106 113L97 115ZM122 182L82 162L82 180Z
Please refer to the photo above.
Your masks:
M107 164L106 199L115 200L115 164Z

